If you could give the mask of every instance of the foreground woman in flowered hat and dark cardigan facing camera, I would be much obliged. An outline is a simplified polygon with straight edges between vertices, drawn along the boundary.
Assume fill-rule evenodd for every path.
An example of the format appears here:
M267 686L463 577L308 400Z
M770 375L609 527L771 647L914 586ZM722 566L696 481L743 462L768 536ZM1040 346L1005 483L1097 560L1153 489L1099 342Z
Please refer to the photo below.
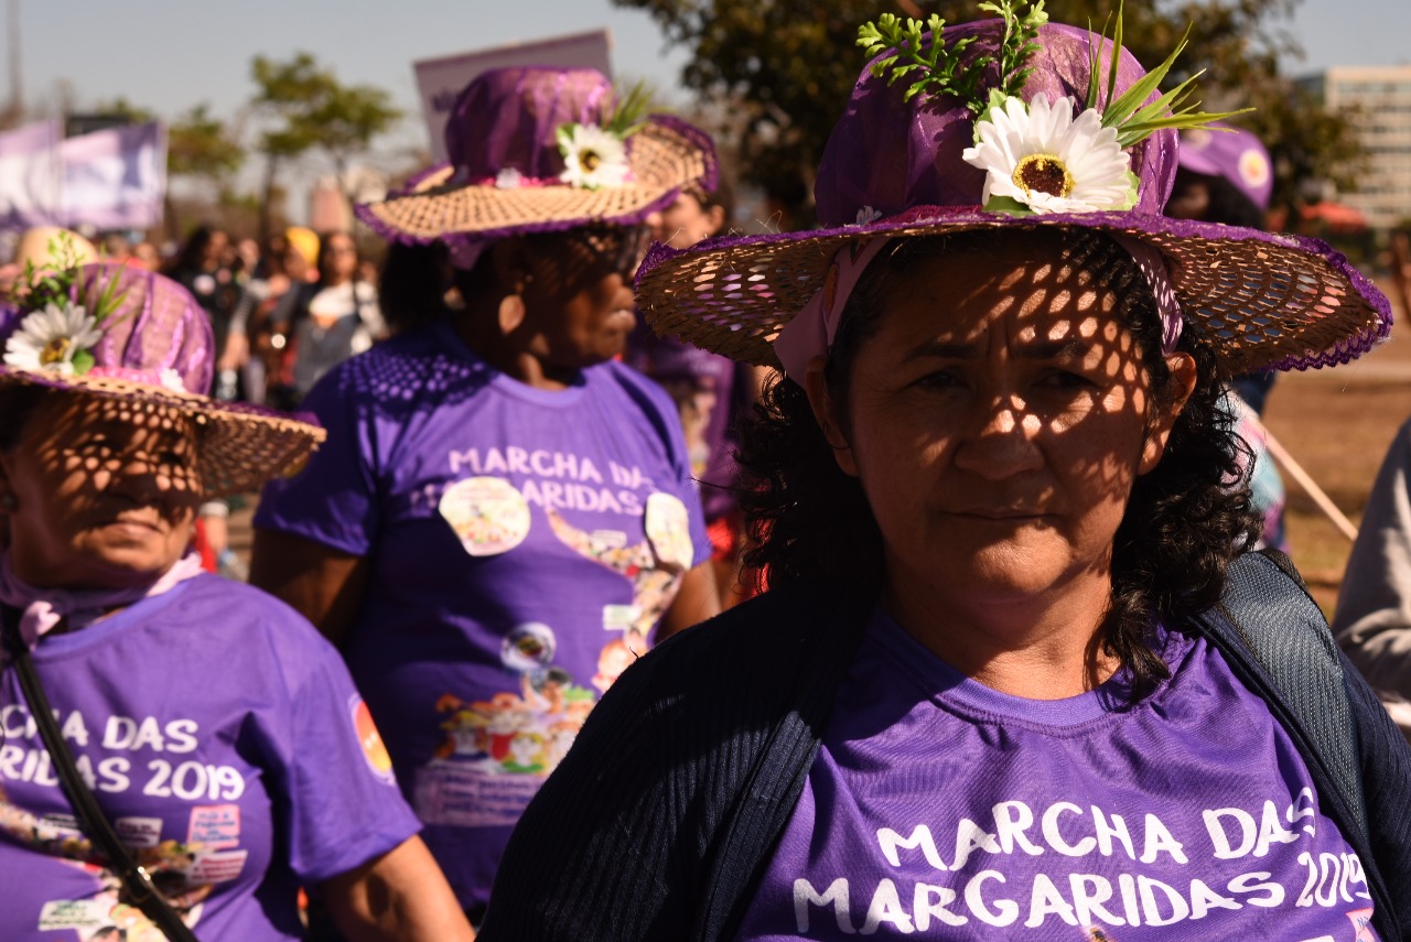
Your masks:
M824 230L643 262L659 330L783 368L741 450L772 588L618 680L481 938L1411 938L1411 757L1240 554L1216 409L1367 350L1386 299L1160 216L1171 126L1213 116L983 6L865 31Z

